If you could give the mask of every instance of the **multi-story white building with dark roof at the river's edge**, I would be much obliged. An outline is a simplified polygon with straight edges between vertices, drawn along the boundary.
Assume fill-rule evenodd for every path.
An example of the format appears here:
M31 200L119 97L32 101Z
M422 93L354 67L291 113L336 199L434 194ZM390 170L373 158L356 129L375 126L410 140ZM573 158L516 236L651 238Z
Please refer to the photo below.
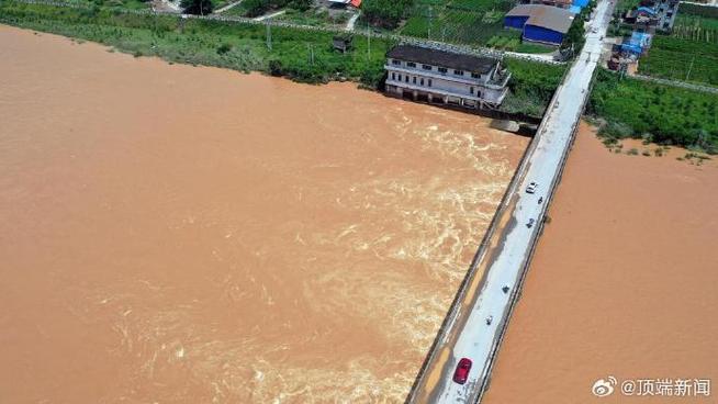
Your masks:
M511 77L498 59L414 45L389 50L385 68L390 94L470 109L501 104Z

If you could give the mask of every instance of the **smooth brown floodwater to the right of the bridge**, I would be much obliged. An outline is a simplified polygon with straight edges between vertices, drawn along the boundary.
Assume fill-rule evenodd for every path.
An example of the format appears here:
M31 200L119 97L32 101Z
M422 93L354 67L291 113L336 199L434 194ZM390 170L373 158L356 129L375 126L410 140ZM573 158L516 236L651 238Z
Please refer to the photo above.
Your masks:
M676 160L685 154L612 154L582 125L486 404L716 402L718 164ZM713 390L639 397L617 384L595 397L609 375L710 379Z

